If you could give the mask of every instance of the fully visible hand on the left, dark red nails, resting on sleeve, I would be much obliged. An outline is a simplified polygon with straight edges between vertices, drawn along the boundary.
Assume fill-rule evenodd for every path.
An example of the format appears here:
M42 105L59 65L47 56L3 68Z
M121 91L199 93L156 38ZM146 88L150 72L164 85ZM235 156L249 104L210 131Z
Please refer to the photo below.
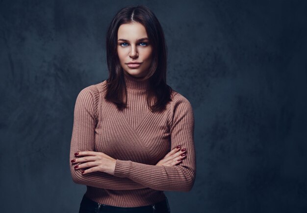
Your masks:
M116 159L113 159L102 152L84 151L77 153L75 153L75 156L82 158L74 159L71 162L73 164L81 163L76 165L75 169L89 168L81 172L83 175L90 172L105 172L114 175Z

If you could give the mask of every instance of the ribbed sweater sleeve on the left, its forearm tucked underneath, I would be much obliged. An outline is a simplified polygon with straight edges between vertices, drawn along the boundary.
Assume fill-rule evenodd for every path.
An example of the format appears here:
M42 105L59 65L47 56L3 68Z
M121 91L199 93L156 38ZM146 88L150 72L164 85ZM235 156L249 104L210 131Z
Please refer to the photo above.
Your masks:
M94 98L95 97L95 98ZM104 172L81 174L80 169L74 166L80 163L71 163L76 159L77 151L95 151L95 128L97 125L97 107L99 91L95 85L84 88L77 96L74 110L74 125L70 147L70 171L75 183L104 189L131 190L147 188L128 178L114 177Z

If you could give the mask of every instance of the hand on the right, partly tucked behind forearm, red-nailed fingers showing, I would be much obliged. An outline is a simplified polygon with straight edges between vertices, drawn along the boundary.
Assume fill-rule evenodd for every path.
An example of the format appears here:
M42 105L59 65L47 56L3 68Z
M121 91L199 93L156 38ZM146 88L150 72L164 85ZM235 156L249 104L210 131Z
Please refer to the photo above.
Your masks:
M183 151L182 151L183 150ZM182 159L186 157L186 150L178 146L171 150L163 159L161 159L156 166L174 166L182 162ZM182 156L183 155L183 156Z

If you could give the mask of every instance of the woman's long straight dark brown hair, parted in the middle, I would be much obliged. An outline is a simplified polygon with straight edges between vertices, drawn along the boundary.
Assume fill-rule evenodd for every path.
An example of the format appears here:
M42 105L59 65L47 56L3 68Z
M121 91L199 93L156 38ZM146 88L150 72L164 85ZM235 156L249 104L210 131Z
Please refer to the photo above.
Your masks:
M147 32L153 49L151 68L143 80L149 79L147 104L151 111L163 111L171 101L172 88L166 84L167 47L163 29L153 12L144 5L127 6L114 16L106 33L106 57L109 78L106 80L105 99L117 105L118 109L127 106L127 88L124 71L117 53L117 32L122 24L137 22L142 24ZM126 101L124 102L124 98ZM155 103L151 105L152 100Z

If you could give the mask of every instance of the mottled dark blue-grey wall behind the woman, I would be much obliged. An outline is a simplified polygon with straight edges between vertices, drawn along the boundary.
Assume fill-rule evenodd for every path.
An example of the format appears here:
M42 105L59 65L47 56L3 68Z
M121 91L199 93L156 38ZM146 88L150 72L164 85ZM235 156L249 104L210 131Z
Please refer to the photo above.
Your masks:
M172 213L307 211L307 2L1 0L3 213L76 213L78 92L107 78L106 27L127 4L158 17L168 83L195 113L197 179Z

